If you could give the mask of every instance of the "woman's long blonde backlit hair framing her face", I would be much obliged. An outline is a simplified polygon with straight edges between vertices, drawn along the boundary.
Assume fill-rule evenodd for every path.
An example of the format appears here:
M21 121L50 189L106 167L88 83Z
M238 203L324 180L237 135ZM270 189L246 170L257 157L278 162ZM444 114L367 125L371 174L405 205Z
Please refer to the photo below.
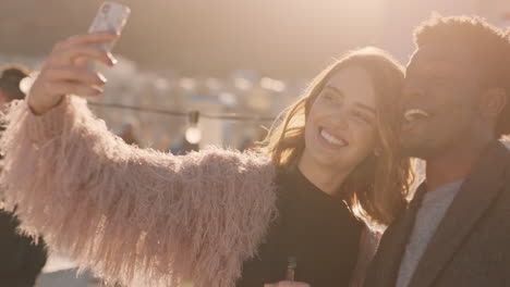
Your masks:
M338 71L356 65L364 68L376 91L376 129L378 155L371 154L347 177L341 192L348 195L351 210L369 224L388 225L405 205L412 180L408 159L400 155L399 96L403 68L385 51L368 47L347 53L321 71L304 96L286 109L260 144L282 170L295 166L305 148L306 116L326 83Z

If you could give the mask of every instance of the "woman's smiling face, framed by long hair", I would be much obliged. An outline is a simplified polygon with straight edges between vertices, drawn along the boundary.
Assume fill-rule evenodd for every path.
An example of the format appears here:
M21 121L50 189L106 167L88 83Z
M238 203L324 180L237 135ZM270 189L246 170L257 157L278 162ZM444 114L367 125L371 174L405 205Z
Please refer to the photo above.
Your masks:
M339 70L306 117L301 164L352 171L374 151L375 104L373 82L364 68L353 65Z

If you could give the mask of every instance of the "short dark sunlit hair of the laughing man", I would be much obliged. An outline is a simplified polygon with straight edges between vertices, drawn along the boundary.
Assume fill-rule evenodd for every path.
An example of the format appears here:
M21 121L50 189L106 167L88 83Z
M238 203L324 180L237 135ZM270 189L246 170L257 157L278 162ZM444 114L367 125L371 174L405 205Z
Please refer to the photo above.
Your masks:
M510 30L503 33L484 18L474 16L432 15L414 30L414 43L453 42L469 46L475 55L474 65L481 68L484 88L503 88L507 105L499 115L496 135L510 134Z

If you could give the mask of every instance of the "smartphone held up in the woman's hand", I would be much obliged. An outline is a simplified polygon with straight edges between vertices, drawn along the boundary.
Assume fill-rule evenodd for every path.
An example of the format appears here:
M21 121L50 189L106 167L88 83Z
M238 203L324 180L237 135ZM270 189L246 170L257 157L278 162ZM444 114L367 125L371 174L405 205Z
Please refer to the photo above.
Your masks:
M130 13L131 9L124 4L112 1L104 2L88 28L88 33L114 32L120 34L127 22ZM111 51L114 42L108 42L102 46L107 51Z

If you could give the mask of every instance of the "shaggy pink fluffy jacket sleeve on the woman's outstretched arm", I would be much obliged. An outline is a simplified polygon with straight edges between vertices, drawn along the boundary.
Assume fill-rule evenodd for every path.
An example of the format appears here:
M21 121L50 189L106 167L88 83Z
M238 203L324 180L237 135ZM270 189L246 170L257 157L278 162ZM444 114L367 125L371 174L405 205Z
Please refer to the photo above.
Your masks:
M23 230L129 286L233 287L277 216L275 167L209 148L175 157L124 144L66 97L5 115L1 184Z

